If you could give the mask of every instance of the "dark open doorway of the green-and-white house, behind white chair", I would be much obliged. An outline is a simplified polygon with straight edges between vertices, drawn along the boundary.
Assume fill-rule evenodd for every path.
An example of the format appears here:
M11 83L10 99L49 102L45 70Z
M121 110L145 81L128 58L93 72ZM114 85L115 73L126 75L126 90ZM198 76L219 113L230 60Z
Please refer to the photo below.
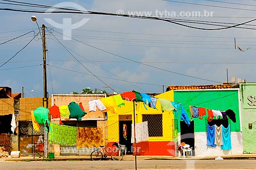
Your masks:
M189 127L184 121L180 121L180 135L181 142L189 144L193 147L192 153L195 156L195 131L194 131L194 120L190 122Z

